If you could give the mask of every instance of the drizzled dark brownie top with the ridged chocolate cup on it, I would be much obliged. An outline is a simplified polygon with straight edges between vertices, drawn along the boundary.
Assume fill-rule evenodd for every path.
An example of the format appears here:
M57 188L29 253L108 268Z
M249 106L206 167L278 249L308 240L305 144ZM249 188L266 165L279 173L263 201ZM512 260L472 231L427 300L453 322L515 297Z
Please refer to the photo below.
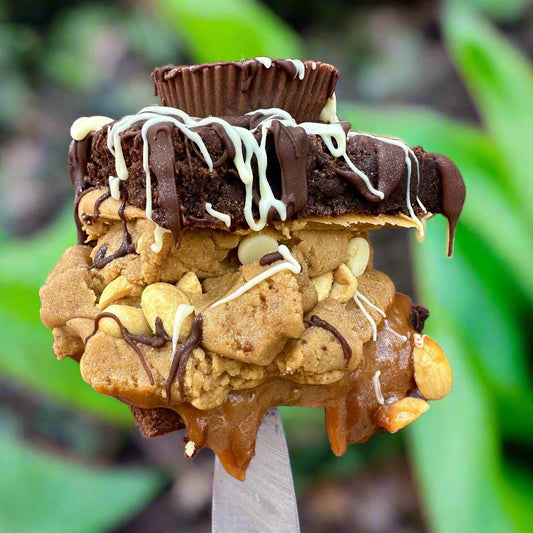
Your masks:
M405 215L422 229L421 217L442 213L449 221L451 250L465 197L457 167L399 139L351 131L336 116L332 91L338 72L331 65L256 58L161 67L152 77L164 104L172 95L190 93L189 112L205 114L212 101L226 102L221 109L229 116L197 118L163 105L118 121L86 119L69 152L78 197L91 187L109 187L115 199L124 195L145 209L176 242L192 227L259 231L277 220L346 214ZM294 107L299 112L310 109L308 102L326 104L304 122L275 107L235 114L241 101L271 103L278 89L251 89L267 77L270 85L286 88L288 108L298 99L303 101ZM321 83L314 91L298 92L303 85L296 82L311 79ZM230 89L240 95L236 107L231 98L223 99Z

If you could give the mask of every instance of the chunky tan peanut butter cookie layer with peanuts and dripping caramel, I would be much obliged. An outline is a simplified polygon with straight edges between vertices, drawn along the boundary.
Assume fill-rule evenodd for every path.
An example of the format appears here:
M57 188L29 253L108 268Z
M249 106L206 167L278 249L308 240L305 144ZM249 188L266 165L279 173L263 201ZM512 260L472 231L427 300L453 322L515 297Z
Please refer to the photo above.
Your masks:
M175 246L106 189L84 194L77 214L87 242L41 290L56 356L79 360L103 394L178 413L195 449L239 479L271 406L324 407L341 455L417 418L428 407L419 391L438 399L451 387L446 358L412 328L411 301L372 268L357 225L193 229Z

